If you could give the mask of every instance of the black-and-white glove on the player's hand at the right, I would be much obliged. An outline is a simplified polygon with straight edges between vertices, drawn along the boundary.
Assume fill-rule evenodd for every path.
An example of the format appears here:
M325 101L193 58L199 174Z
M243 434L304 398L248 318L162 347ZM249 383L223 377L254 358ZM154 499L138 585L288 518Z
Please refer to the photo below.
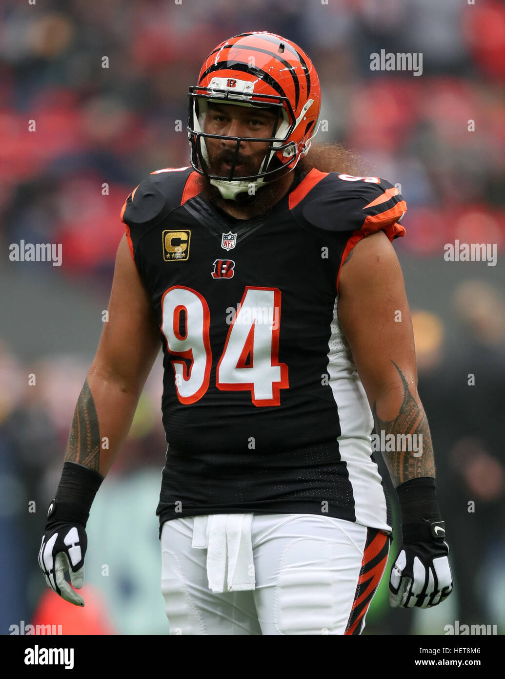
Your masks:
M403 543L389 581L393 608L431 608L452 591L449 545L443 521L423 521L402 527Z

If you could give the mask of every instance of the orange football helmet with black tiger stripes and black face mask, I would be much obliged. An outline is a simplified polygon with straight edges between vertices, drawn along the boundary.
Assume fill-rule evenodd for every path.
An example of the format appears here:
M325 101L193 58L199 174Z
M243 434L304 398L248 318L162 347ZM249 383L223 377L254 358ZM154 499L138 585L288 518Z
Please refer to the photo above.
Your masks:
M188 97L190 163L218 187L223 198L236 200L237 194L248 191L251 185L261 187L265 178L277 179L293 170L317 132L321 110L317 72L298 45L267 31L241 33L220 43L203 62L198 84L189 88ZM277 109L273 136L226 137L237 142L226 177L209 174L205 139L223 139L222 135L203 132L209 102ZM268 142L259 172L235 179L241 141L252 140Z

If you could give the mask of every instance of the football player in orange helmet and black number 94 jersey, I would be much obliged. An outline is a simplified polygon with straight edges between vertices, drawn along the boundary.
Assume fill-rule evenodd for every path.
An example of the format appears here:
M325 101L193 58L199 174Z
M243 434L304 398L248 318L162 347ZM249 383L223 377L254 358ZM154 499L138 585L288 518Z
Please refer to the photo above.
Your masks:
M435 606L452 579L392 247L405 200L305 160L321 90L288 39L224 41L188 97L190 165L123 206L39 551L47 583L84 605L65 575L83 584L89 509L161 342L169 634L361 634L392 532L376 440L403 520L390 603Z

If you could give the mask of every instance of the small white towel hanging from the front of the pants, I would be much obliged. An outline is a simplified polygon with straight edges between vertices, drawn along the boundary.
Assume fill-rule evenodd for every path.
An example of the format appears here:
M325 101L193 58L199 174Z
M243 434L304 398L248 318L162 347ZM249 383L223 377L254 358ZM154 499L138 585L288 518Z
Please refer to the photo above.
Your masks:
M193 519L191 547L207 547L207 579L214 592L254 589L252 514L210 514Z

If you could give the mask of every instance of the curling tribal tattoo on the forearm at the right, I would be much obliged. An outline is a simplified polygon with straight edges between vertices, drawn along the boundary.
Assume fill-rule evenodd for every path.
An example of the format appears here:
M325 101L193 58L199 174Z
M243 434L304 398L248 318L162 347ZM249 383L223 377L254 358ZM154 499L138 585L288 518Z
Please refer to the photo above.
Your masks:
M426 476L435 478L435 460L433 457L430 428L428 427L428 420L426 420L422 404L420 401L416 401L411 394L405 375L403 375L395 361L391 361L391 363L395 366L401 377L403 403L401 404L398 416L394 420L390 420L390 422L384 422L377 414L377 401L373 401L372 414L376 426L376 434L380 437L381 432L384 431L386 437L388 434L392 434L395 437L395 441L401 440L399 435L416 434L418 441L421 441L420 455L414 455L413 450L407 450L405 443L396 447L395 452L382 452L396 488L401 483L409 481L409 479Z

